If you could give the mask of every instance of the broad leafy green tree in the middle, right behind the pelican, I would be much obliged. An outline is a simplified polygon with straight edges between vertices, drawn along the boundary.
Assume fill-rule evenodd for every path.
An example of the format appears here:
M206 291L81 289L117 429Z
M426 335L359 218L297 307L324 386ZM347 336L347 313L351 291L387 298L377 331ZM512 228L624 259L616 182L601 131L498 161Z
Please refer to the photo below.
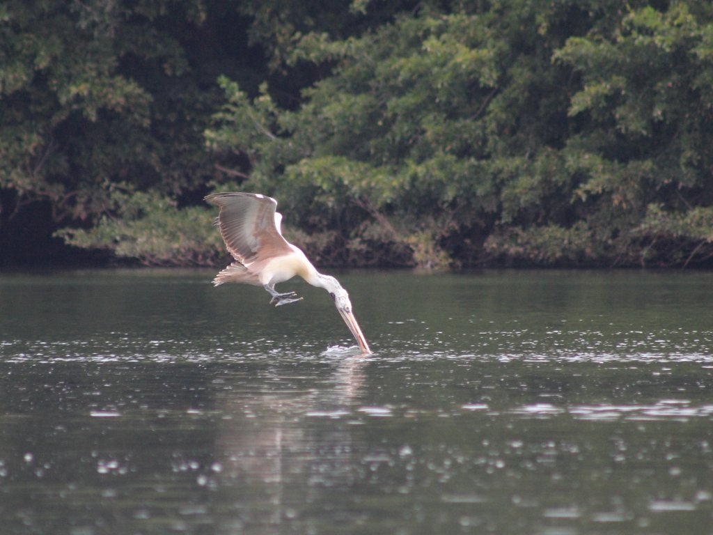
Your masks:
M568 178L548 172L562 167L551 151L568 132L570 70L551 56L572 4L424 2L361 36L305 34L291 61L329 63L330 76L295 111L224 80L229 104L208 139L247 155L245 187L285 199L319 243L340 228L359 256L468 258L498 221L531 224L562 203Z

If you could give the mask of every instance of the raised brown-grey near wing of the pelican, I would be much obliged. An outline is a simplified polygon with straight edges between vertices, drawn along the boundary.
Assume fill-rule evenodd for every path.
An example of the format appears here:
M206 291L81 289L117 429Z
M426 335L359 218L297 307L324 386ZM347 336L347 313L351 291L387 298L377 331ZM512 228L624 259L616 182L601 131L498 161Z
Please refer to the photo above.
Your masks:
M228 252L242 264L292 253L275 226L277 200L257 193L213 193L220 206L217 226Z

